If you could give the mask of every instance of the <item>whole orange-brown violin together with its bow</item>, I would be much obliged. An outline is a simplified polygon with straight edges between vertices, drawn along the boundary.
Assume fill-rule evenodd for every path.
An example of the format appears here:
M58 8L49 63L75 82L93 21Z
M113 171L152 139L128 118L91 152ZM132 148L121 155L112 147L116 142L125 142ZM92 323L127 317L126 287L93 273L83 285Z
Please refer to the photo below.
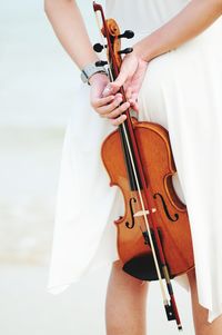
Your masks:
M94 45L97 52L107 49L110 80L121 68L121 38L132 38L131 30L120 32L113 19L105 19L102 7L93 2L102 19L101 33L105 42ZM127 101L123 87L120 88ZM122 104L123 104L122 102ZM155 122L127 119L103 141L101 157L110 176L110 185L122 191L125 213L115 220L118 253L123 270L142 280L159 280L167 317L182 329L171 279L194 267L193 247L186 206L178 197L172 176L175 164L169 134ZM165 284L165 286L164 286ZM167 287L167 292L165 292ZM169 296L169 297L168 297Z

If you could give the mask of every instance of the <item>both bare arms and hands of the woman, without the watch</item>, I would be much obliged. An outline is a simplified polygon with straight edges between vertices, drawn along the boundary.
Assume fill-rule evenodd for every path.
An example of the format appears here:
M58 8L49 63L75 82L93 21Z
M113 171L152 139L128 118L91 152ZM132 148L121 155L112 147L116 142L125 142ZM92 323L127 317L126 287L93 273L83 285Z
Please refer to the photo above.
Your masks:
M46 12L64 49L82 69L94 62L98 57L93 51L84 23L74 0L44 0ZM92 76L91 104L102 116L110 118L113 125L124 120L122 111L129 102L121 105L120 86L129 88L128 98L134 106L137 96L145 72L147 62L151 59L175 49L180 45L201 33L222 13L222 0L193 0L167 24L152 32L134 46L134 51L128 55L122 63L117 80L109 83L105 76ZM107 98L104 98L107 97ZM128 104L128 105L127 105Z

